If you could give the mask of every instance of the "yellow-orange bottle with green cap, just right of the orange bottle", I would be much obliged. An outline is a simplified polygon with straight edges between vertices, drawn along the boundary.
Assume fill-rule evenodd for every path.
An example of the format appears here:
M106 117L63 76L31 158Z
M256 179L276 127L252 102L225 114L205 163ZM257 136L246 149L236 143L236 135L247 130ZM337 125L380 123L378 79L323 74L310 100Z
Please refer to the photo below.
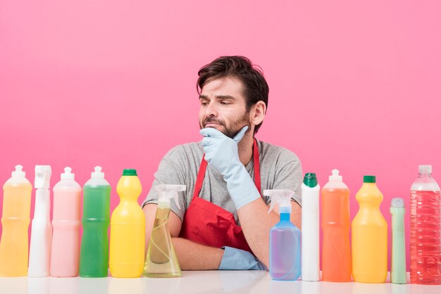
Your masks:
M352 276L361 283L384 283L387 277L387 222L380 212L383 194L375 176L364 176L355 196L359 203L352 221Z

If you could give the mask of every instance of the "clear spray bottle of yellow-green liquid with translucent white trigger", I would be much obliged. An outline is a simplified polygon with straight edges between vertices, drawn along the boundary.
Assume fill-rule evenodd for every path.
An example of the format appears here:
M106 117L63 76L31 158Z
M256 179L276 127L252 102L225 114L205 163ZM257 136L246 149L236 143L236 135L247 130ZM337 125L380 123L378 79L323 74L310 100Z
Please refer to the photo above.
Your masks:
M185 191L185 185L161 184L155 188L159 193L158 207L151 230L144 275L150 278L182 276L178 257L171 242L170 231L168 231L168 216L170 215L170 200L173 199L179 207L178 192Z

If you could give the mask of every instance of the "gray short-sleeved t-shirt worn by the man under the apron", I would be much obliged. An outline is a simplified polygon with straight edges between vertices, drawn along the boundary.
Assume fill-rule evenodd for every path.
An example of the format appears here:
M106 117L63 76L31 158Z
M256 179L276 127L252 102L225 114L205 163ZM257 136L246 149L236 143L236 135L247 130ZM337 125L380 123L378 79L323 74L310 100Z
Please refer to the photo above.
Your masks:
M257 141L260 158L261 192L264 189L290 189L295 192L292 197L299 205L302 205L302 165L297 155L291 151L271 145L263 141ZM159 184L180 184L186 186L186 191L179 192L179 206L171 202L171 210L182 220L185 211L192 202L194 185L196 184L197 172L201 165L204 148L200 142L187 143L172 148L159 163L158 171L154 174L154 181L142 203L158 203L158 191L155 186ZM247 172L254 179L254 162L246 166ZM207 166L199 197L211 203L223 207L235 216L237 224L237 210L230 195L228 194L227 184L223 176L210 165ZM263 200L268 203L270 198L263 196Z

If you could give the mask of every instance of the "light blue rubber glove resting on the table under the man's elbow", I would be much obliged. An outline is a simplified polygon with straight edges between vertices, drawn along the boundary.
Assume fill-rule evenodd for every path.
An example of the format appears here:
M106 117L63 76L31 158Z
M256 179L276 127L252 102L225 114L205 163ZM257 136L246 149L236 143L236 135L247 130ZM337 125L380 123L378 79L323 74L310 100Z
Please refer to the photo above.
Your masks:
M223 253L219 269L266 270L266 267L248 251L225 246L225 252Z

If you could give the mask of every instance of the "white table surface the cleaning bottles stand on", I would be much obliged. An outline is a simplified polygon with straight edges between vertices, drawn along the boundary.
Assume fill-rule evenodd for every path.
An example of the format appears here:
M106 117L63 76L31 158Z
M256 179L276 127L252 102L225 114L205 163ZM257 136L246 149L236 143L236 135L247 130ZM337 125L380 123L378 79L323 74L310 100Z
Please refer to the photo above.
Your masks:
M441 294L440 286L407 283L329 283L273 281L268 271L183 271L181 278L0 278L0 294L161 294L161 293L271 293L271 294Z

